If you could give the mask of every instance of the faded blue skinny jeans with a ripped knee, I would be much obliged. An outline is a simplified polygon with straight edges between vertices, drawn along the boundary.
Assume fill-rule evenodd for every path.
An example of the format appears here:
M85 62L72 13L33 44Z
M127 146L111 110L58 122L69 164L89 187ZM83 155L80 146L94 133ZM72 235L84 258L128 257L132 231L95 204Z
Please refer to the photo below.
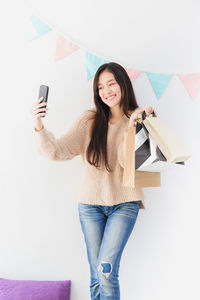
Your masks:
M113 206L78 203L90 265L92 300L119 300L119 265L135 225L139 201Z

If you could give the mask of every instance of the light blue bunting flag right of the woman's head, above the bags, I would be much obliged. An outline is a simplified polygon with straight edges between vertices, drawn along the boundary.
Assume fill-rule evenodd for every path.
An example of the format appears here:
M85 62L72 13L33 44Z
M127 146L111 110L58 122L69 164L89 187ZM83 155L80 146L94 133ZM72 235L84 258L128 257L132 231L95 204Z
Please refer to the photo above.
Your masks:
M171 80L171 74L157 74L146 72L151 83L151 86L156 94L156 97L159 99L164 90L166 89L169 81Z

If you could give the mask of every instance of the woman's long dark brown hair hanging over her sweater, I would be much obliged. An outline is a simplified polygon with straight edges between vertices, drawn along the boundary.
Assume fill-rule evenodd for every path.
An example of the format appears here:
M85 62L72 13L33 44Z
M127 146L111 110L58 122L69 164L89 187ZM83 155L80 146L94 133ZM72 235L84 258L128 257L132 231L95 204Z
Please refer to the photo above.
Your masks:
M87 161L99 168L104 163L108 172L112 170L108 164L107 158L107 132L108 132L108 119L110 107L106 105L99 96L98 80L99 75L104 70L113 73L115 80L121 88L121 101L120 107L122 107L124 114L129 118L129 111L133 111L138 107L133 86L126 70L115 62L110 62L101 65L93 81L93 93L94 93L94 104L96 107L94 120L91 128L91 140L87 148L86 157ZM91 159L92 157L92 159Z

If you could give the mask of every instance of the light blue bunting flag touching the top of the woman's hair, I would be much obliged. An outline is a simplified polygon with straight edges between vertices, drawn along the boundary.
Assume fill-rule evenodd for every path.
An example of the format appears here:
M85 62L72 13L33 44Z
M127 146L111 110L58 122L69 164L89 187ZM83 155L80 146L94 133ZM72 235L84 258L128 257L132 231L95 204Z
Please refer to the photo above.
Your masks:
M105 63L109 63L109 61L107 61L101 57L95 56L87 51L85 53L85 59L86 59L87 80L89 80L90 78L92 78L95 75L97 69L101 65L103 65Z

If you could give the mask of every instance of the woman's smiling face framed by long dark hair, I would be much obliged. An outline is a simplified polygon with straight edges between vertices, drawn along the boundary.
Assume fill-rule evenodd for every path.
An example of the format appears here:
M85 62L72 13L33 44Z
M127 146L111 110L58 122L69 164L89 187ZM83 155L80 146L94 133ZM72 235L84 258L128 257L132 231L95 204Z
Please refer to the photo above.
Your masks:
M113 73L104 70L99 75L98 91L101 100L109 107L120 104L121 88L115 80L115 76L113 75Z

